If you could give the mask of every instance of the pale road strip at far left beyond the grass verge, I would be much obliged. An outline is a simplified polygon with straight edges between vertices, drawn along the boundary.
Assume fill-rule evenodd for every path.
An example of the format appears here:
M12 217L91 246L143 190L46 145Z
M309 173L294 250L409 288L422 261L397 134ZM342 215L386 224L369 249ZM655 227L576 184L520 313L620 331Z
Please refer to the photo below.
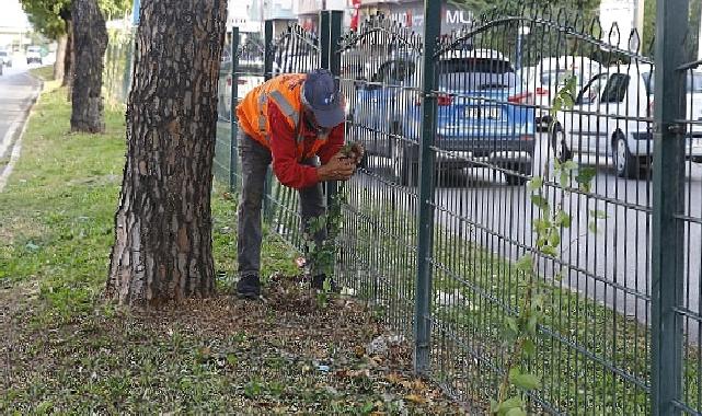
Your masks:
M0 76L0 175L9 164L16 138L41 86L23 63L15 61Z

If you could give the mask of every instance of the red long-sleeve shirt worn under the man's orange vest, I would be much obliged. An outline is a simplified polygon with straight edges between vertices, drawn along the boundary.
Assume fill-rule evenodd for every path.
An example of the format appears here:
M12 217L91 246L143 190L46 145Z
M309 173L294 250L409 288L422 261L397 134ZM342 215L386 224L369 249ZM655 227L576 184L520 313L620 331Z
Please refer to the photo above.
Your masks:
M301 164L297 150L295 130L288 125L277 105L268 103L268 124L271 126L271 154L273 155L273 172L283 185L299 189L312 186L320 182L317 167ZM304 152L317 140L317 131L311 130L306 120L304 113L300 115L300 135L303 137ZM318 150L322 164L332 159L344 146L344 124L334 127L326 138L326 142Z

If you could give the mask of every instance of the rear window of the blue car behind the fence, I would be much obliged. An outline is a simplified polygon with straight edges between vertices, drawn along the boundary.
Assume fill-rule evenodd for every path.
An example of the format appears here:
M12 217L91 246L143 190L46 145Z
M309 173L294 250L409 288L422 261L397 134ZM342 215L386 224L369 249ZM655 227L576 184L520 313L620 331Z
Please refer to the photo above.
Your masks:
M492 58L452 58L439 62L439 86L476 91L516 86L519 81L511 65Z

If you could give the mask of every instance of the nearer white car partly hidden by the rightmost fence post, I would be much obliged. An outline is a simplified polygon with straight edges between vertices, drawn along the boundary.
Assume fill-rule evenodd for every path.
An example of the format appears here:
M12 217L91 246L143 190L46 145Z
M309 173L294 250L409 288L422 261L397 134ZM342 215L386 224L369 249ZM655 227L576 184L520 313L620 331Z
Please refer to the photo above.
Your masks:
M688 72L688 119L702 119L702 71ZM573 112L559 114L551 134L556 155L584 163L612 164L621 177L636 178L653 155L654 76L651 65L619 66L590 78ZM702 161L702 125L688 128L686 152ZM588 161L589 159L589 161Z

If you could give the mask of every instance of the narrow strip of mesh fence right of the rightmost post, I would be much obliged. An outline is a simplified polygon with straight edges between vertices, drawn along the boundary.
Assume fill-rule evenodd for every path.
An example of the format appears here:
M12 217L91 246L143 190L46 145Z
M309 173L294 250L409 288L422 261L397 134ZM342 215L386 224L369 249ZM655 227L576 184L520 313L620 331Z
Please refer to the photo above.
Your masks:
M691 57L692 58L692 57ZM684 414L702 412L702 315L700 297L702 285L702 70L698 62L678 71L681 88L686 97L679 105L684 118L679 120L682 127L677 140L684 148L680 153L678 169L682 172L670 172L683 177L681 192L684 207L677 216L682 230L682 263L678 273L684 278L681 302L677 309L684 333L682 350L682 394L678 406Z

